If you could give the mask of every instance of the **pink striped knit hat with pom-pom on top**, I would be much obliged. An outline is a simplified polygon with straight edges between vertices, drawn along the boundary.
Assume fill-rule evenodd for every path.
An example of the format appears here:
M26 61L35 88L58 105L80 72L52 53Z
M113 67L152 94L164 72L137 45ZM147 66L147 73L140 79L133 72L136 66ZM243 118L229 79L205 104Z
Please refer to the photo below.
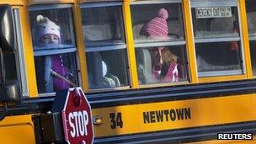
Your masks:
M153 39L163 39L168 37L168 11L161 8L157 12L157 17L144 24L141 29L142 35L151 36Z

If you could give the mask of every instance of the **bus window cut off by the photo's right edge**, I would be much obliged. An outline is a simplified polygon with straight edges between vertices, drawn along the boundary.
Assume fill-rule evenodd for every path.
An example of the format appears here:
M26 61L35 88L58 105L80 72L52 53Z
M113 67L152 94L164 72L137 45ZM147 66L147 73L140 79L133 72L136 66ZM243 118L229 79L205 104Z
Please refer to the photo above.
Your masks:
M254 5L252 5L254 4ZM246 1L248 33L250 41L251 60L253 67L253 76L256 75L256 2L253 0Z

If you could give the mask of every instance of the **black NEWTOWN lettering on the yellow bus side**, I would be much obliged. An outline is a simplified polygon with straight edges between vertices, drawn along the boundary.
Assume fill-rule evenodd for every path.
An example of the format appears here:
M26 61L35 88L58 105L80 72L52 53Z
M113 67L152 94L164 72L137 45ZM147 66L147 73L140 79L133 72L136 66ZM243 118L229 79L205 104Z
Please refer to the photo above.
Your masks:
M144 124L189 119L191 119L190 108L164 109L143 112Z

